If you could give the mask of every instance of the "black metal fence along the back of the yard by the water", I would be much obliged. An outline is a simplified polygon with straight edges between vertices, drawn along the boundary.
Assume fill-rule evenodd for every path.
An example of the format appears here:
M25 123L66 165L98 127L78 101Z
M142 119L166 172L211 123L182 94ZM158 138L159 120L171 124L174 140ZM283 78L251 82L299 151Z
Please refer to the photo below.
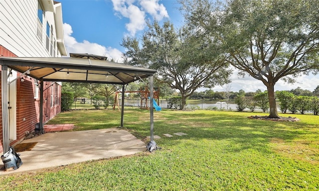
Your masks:
M253 103L253 102L252 102ZM119 101L119 105L115 105L116 109L118 109L119 106L121 106L122 101ZM280 109L280 102L277 101L277 110L278 112L282 112ZM105 103L100 103L100 109L105 109ZM253 105L253 104L250 104ZM124 100L124 106L131 106L131 107L149 107L150 106L150 100L146 103L145 100L141 99L125 99ZM167 108L168 102L167 100L160 100L159 106L161 108ZM113 108L113 103L109 103L108 109ZM225 101L225 100L206 100L206 99L189 99L186 101L186 108L187 109L208 109L208 110L220 110L220 111L237 111L238 105L233 101ZM78 109L97 109L96 106L93 104L93 101L91 99L78 99L77 101L73 102L72 108L74 110ZM254 109L245 107L243 111L253 111L253 112L263 112L263 110L256 106ZM269 112L269 108L266 112ZM287 111L287 113L291 113L290 111ZM299 113L299 112L296 112ZM307 114L313 114L312 111L306 111Z

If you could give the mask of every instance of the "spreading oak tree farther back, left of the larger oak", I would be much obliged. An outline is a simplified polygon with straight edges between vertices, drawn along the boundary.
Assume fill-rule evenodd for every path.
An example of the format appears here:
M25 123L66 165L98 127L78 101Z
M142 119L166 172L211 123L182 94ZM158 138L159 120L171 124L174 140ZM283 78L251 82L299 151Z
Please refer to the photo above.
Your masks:
M175 30L169 21L162 26L157 21L148 26L140 41L123 39L122 46L127 48L125 63L158 70L156 77L161 83L179 90L182 109L196 89L228 82L231 71L214 41L186 26Z

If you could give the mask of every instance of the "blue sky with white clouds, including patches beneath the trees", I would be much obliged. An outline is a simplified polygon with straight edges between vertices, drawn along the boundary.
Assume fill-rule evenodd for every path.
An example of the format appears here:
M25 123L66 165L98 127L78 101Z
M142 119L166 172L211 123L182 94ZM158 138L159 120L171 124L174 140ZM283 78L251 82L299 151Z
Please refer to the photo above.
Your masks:
M64 40L68 53L88 53L122 61L125 49L120 45L125 36L140 37L147 20L170 20L180 26L183 17L176 0L59 0L62 3ZM255 92L266 90L265 85L251 77L239 78L234 72L231 91ZM292 90L301 87L314 91L319 85L318 76L302 76L299 83L279 81L275 90ZM215 87L214 91L225 91ZM203 89L199 90L203 91Z

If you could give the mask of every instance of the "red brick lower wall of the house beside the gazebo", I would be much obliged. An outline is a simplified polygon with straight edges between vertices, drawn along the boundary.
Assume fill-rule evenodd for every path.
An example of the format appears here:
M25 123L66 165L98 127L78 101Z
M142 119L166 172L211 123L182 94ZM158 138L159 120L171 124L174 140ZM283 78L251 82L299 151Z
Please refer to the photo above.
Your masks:
M16 55L0 45L0 57L16 57ZM19 75L20 74L18 74L18 76ZM40 90L38 91L38 98L34 98L36 97L34 95L36 81L27 76L23 76L23 79L24 82L21 82L20 79L16 82L16 140L10 142L10 145L22 140L25 136L25 132L34 131L35 124L39 122L40 117ZM55 90L56 86L58 88L58 96L53 95L53 103L56 104L51 106L51 88L53 87ZM44 82L43 90L43 123L46 123L61 111L61 86L53 82ZM54 91L53 94L55 94L55 92L56 91ZM57 101L55 101L55 99ZM0 103L0 154L3 153L2 139L2 107Z

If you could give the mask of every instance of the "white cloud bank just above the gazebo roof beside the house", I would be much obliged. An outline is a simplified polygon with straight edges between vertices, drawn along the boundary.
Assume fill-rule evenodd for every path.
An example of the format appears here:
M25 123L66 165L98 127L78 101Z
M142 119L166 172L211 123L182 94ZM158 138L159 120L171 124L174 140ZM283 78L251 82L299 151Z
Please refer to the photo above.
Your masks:
M121 58L122 52L116 48L105 47L97 43L92 43L87 40L83 42L77 42L74 37L72 37L72 27L71 25L64 23L64 43L68 53L87 53L95 54L100 56L107 56L109 59L114 59L116 62L122 63Z

